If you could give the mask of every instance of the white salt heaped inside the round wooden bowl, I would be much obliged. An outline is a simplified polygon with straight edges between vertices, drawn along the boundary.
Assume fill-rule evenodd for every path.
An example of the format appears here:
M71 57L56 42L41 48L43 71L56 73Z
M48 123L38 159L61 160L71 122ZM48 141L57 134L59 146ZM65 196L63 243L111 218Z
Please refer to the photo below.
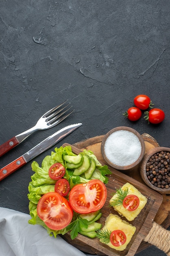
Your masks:
M139 138L127 130L113 132L105 142L105 155L118 166L133 164L140 156L142 146Z

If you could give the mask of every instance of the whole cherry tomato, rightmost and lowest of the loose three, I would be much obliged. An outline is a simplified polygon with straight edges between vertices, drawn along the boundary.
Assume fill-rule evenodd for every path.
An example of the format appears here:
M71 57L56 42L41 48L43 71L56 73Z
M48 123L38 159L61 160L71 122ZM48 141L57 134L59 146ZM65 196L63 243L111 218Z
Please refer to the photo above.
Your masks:
M165 118L165 113L163 110L159 108L153 108L151 110L144 112L146 116L144 117L146 120L148 120L148 124L159 124L163 121Z

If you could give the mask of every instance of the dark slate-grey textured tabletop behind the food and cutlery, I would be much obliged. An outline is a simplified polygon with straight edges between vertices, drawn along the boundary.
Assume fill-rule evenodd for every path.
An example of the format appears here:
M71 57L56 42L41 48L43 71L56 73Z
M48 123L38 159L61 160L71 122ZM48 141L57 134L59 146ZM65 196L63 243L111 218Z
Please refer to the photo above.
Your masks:
M0 168L75 122L83 126L57 146L130 126L170 147L169 10L169 0L1 0L0 144L65 99L75 111L1 157ZM161 124L123 117L137 94L148 94L165 111ZM35 160L41 164L51 150ZM32 174L29 162L0 182L1 207L28 213ZM165 254L150 247L137 255Z

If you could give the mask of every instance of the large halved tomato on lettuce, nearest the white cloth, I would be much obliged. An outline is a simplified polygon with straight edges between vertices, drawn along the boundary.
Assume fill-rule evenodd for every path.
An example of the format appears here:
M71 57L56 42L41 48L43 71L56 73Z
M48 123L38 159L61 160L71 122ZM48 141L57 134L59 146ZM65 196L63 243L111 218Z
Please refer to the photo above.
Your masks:
M64 229L73 217L68 200L56 192L48 192L39 199L37 214L53 230Z

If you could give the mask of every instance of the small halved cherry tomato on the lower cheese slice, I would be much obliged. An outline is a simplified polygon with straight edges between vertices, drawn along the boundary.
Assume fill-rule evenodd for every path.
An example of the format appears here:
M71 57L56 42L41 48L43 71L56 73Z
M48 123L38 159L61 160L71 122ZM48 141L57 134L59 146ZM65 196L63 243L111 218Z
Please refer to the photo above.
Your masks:
M126 235L122 230L116 229L111 232L110 241L112 245L118 247L126 243Z

